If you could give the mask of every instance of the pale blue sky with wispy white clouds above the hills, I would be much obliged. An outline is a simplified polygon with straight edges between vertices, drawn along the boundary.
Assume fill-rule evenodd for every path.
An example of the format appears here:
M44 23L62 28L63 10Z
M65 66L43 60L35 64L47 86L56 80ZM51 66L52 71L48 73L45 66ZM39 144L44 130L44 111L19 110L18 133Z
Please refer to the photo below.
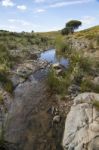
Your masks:
M60 30L71 19L85 29L99 24L99 0L0 0L0 29Z

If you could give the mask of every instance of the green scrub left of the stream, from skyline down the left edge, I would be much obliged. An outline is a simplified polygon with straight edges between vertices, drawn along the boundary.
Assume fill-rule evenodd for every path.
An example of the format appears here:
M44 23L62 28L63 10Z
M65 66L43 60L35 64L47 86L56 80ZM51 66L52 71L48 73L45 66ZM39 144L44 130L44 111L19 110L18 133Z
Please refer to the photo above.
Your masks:
M31 51L44 50L52 45L49 37L38 33L16 33L0 30L0 84L7 91L13 92L9 71L13 65L30 57Z

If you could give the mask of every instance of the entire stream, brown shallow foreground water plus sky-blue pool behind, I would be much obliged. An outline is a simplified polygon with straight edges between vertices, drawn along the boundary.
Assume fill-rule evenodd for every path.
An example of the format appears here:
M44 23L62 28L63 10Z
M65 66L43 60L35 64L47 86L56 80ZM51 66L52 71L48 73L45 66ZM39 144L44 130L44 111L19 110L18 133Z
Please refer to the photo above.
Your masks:
M58 56L55 49L42 52L37 64L43 60L52 64L60 63L65 67L68 65L68 59ZM14 90L5 139L15 144L15 150L62 150L63 121L53 126L55 114L49 112L52 108L59 108L59 104L45 82L47 66L43 64L38 70L35 64L33 66L34 72L28 80Z

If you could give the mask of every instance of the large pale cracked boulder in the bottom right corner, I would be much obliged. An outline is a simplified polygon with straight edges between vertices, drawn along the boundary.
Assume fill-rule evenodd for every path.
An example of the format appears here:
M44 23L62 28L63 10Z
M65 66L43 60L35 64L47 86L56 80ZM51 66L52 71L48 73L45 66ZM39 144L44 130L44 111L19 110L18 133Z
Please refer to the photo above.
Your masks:
M83 93L74 99L63 136L64 150L99 150L99 94Z

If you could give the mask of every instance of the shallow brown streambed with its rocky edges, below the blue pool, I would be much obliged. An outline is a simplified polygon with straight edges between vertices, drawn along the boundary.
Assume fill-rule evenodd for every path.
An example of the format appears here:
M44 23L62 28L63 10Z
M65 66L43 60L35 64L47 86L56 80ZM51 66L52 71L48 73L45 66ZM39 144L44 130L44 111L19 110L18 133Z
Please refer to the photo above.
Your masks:
M49 67L46 61L26 60L10 71L13 95L1 88L5 141L10 150L62 150L65 116L72 101L61 101L49 91Z

